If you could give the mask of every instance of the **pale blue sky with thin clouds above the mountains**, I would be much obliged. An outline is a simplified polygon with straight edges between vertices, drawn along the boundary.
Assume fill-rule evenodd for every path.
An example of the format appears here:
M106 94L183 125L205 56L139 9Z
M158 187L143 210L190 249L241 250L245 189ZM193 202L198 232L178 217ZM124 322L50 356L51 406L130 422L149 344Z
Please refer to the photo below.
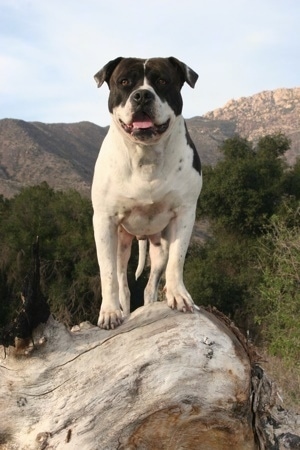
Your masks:
M175 56L199 78L183 114L300 86L299 0L0 0L0 119L106 126L94 74L118 56Z

